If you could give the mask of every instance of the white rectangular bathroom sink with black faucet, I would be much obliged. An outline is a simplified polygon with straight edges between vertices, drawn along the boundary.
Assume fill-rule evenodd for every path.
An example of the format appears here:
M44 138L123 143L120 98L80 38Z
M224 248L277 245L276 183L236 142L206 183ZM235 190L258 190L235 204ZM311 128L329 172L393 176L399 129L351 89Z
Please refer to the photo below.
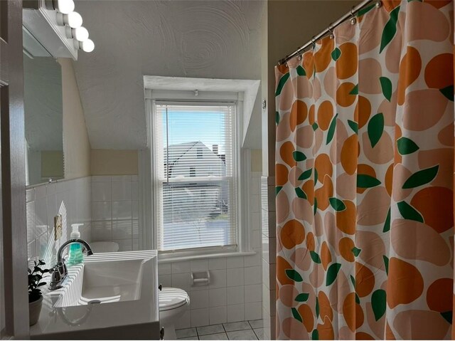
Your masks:
M159 335L156 251L95 253L68 266L63 287L43 295L32 339L124 338L132 328L139 338ZM70 334L69 334L70 333Z

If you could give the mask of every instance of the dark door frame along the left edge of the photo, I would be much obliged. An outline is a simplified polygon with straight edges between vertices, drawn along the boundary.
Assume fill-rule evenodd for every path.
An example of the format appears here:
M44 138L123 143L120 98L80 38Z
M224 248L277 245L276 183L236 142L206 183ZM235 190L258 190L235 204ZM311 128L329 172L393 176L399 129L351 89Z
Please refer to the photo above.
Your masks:
M0 0L1 228L5 325L2 337L28 339L22 0Z

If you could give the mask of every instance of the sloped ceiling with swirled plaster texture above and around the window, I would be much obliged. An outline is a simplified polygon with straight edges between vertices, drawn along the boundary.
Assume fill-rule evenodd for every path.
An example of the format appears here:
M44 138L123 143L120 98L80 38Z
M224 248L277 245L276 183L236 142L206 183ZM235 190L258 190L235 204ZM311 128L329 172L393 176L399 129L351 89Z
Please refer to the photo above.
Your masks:
M260 79L265 1L76 1L95 51L74 62L94 149L146 147L144 75ZM257 99L245 145L260 148Z

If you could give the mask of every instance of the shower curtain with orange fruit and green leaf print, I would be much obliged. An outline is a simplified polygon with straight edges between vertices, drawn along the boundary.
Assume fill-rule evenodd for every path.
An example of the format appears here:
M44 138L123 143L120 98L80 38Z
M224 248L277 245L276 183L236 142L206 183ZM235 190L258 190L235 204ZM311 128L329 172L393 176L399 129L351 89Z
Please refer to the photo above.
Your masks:
M277 66L277 339L449 339L454 3L382 1Z

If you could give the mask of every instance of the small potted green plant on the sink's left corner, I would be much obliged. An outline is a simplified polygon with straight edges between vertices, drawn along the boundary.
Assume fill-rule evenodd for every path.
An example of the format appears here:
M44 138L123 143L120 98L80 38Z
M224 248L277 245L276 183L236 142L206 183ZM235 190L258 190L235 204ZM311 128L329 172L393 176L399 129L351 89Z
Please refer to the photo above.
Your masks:
M48 273L48 269L42 269L45 265L44 261L38 259L38 263L33 261L35 266L33 271L28 268L28 315L30 317L30 325L35 325L41 313L41 305L43 304L43 294L40 287L45 285L43 282L43 274Z

